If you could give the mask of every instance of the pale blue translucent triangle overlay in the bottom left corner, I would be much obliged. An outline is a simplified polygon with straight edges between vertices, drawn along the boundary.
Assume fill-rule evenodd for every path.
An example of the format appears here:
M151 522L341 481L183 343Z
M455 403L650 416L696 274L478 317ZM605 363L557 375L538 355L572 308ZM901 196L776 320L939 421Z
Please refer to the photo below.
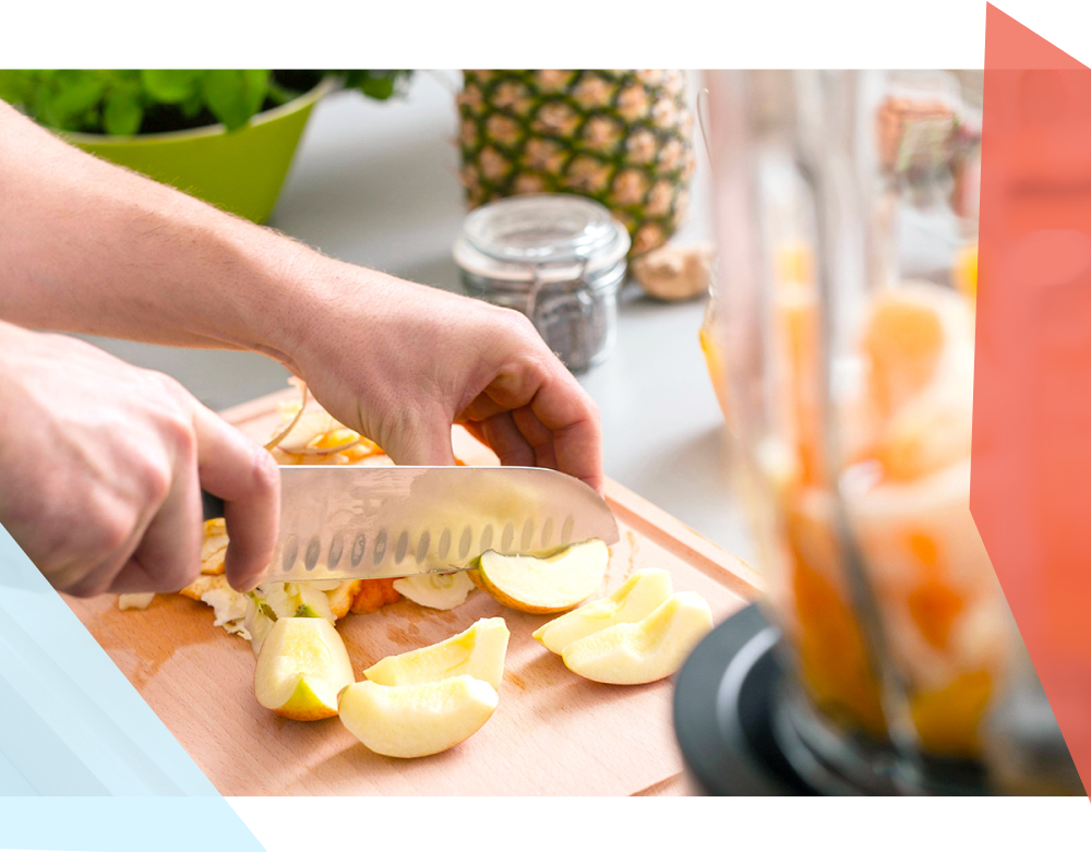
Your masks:
M2 482L0 482L2 487ZM113 664L7 530L0 527L0 793L31 796L95 796L76 848L98 849L94 825L125 808L145 813L146 796L205 796L199 807L218 814L217 842L262 849L253 833L179 745L132 684ZM103 806L98 796L124 796ZM132 796L145 799L134 800ZM26 817L29 827L56 808L64 823L79 800L0 800L0 848L24 845L9 838ZM17 805L15 803L19 802ZM140 804L143 802L144 804ZM97 803L97 804L96 804ZM128 803L128 804L127 804ZM158 814L193 814L192 800L163 800ZM96 808L99 808L96 811ZM147 812L152 813L152 812ZM36 821L37 820L37 821ZM176 823L177 825L177 823ZM17 835L17 837L23 837ZM116 835L104 833L104 838ZM161 836L155 845L161 849ZM145 838L145 843L147 838ZM11 842L11 845L9 845ZM52 841L50 841L52 842ZM46 848L39 840L26 848ZM52 845L50 848L64 848ZM68 842L72 848L72 843ZM105 848L105 847L104 847ZM118 845L122 850L129 847ZM136 849L137 847L132 847ZM147 848L146 845L143 848Z

